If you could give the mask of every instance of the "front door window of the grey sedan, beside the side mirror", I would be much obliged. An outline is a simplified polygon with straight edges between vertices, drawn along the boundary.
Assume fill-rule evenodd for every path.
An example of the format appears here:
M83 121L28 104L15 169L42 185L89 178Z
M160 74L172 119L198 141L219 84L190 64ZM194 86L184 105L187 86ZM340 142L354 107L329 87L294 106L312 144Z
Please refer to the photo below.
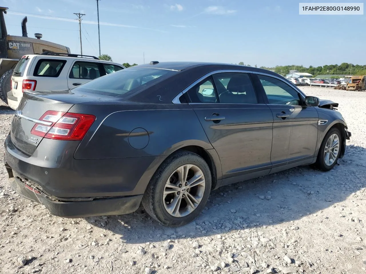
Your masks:
M300 105L299 93L285 82L270 76L258 75L270 104Z

